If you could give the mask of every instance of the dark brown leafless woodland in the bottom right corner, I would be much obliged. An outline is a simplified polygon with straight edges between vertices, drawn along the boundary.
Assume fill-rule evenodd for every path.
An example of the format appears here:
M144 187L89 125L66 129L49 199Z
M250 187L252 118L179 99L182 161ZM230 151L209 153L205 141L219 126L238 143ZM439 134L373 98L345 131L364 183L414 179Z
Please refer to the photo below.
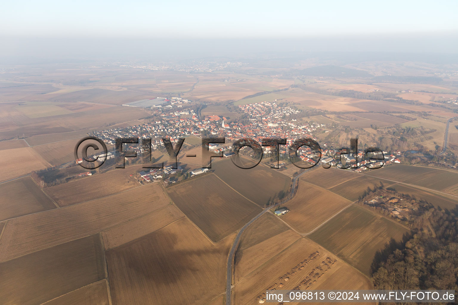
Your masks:
M392 241L387 246L392 251L381 251L373 262L376 289L457 290L458 209L418 204L425 209L410 221L412 235L400 243ZM386 256L380 259L383 252Z

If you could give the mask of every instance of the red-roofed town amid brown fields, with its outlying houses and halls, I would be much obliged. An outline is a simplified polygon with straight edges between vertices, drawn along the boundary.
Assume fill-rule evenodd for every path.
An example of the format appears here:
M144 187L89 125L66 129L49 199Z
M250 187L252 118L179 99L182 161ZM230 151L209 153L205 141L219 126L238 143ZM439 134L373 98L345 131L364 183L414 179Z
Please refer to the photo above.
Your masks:
M234 155L232 144L240 138L250 138L261 143L264 138L282 138L287 139L285 146L280 146L278 167L282 168L290 164L289 159L293 158L290 155L287 146L296 139L311 138L317 140L314 136L316 132L328 132L326 124L307 123L295 118L301 111L294 107L281 107L276 101L259 102L247 105L238 106L238 111L244 114L246 119L228 119L224 116L206 115L201 117L196 111L195 103L182 99L180 97L161 98L151 100L140 100L129 104L124 104L125 107L142 107L148 108L151 111L151 120L142 125L135 125L126 128L113 128L103 131L90 133L105 143L114 145L116 139L138 137L139 139L151 138L151 149L165 152L163 139L169 139L175 144L179 138L187 138L194 136L200 138L222 137L226 139L225 144L209 144L208 149L223 157ZM323 143L321 163L327 166L337 166L340 150L335 148L337 144ZM144 153L144 148L141 145L129 145L128 150L135 150L137 154ZM263 147L263 153L267 156L275 154L274 146ZM345 150L343 150L345 152ZM403 153L400 150L393 152L383 151L383 161L364 161L364 150L358 150L356 155L347 153L342 154L342 161L346 164L354 165L352 171L362 172L371 166L390 165L392 163L401 163L399 159ZM312 150L310 147L302 146L297 152L297 157L301 161L316 165L316 157L319 156L318 151ZM107 155L97 155L101 158L114 158L114 155L109 152ZM127 158L129 159L129 158ZM81 163L82 159L77 163ZM286 162L285 162L286 161ZM370 162L370 165L368 164ZM366 165L366 166L364 166ZM299 168L298 168L299 170ZM186 173L183 178L194 177L206 173L208 169L201 168L189 173ZM172 177L177 173L183 174L183 169L179 166L178 169L172 169L172 166L167 166L161 169L151 169L150 171L141 171L139 176L142 181L150 182L152 180L164 179L166 182L176 182L167 177ZM81 175L87 175L82 173Z

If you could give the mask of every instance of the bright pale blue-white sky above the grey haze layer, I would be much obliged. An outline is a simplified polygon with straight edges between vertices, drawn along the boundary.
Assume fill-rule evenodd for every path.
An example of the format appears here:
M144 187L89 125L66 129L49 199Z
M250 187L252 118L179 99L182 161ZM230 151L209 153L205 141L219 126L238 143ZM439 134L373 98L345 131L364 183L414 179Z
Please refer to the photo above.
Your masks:
M3 1L0 34L310 37L458 30L457 0Z

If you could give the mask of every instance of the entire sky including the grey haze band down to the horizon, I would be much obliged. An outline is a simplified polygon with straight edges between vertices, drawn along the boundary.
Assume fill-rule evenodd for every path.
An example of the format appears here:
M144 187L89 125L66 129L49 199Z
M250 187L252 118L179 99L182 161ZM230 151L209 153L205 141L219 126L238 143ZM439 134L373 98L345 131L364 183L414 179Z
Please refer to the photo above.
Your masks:
M3 1L0 64L294 52L456 55L457 11L458 0Z

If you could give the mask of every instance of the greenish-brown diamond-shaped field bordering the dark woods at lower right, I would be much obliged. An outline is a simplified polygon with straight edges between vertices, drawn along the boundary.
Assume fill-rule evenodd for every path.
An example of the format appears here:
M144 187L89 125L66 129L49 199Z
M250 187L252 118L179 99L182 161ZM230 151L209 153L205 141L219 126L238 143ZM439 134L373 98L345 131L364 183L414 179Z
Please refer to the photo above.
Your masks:
M394 221L352 205L309 237L370 276L377 251L407 233L409 230Z

